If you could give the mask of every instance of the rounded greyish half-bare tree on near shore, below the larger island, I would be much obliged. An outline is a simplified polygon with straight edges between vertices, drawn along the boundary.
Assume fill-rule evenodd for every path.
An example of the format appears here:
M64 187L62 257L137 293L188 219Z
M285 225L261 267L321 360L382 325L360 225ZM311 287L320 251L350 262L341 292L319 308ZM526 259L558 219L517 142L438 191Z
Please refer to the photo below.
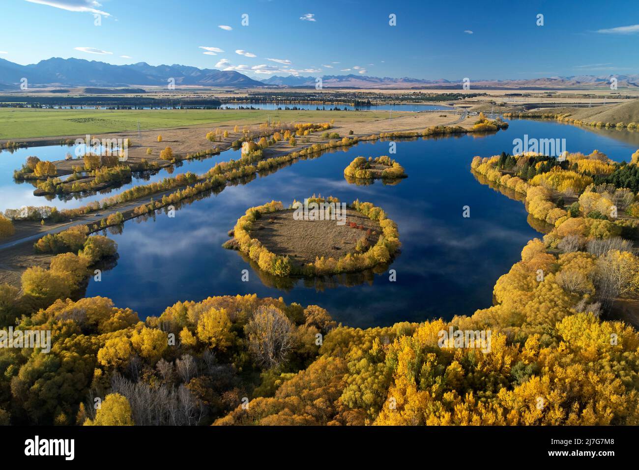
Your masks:
M245 327L249 349L257 363L268 368L286 359L293 342L293 324L279 308L261 306Z

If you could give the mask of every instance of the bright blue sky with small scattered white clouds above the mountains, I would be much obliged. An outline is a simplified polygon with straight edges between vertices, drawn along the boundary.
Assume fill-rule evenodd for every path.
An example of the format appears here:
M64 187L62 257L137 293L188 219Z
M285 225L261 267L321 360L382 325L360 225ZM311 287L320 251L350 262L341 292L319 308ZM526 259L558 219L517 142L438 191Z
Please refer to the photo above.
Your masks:
M636 0L3 0L2 11L0 58L21 64L50 57L180 63L258 79L639 73Z

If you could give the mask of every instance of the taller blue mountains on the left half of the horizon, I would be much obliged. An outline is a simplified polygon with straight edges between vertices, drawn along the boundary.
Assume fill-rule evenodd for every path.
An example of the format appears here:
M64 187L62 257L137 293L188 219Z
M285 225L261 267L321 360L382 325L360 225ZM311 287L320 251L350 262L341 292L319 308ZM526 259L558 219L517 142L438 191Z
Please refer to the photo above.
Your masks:
M233 86L236 88L265 86L234 70L200 69L186 65L112 65L84 59L50 58L37 64L19 65L0 59L0 83L20 84L25 77L32 85L89 87L127 87L132 85L166 86L173 78L176 85Z

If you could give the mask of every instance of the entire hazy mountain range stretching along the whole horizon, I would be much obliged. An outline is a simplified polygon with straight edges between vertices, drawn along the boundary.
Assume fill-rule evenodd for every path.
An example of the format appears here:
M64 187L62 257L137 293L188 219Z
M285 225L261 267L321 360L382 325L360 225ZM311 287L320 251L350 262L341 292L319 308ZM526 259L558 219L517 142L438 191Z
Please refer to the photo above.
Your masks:
M558 88L606 88L612 77L618 88L639 88L639 75L572 75L521 80L471 79L473 90L553 90ZM301 75L273 75L257 81L235 70L215 70L187 65L149 65L138 62L130 65L112 65L85 59L50 58L36 64L20 65L0 59L0 90L20 90L25 77L29 86L166 86L173 78L176 85L228 86L233 88L314 88L316 77ZM371 77L369 75L323 75L323 88L438 88L461 90L462 81L424 80L410 77Z

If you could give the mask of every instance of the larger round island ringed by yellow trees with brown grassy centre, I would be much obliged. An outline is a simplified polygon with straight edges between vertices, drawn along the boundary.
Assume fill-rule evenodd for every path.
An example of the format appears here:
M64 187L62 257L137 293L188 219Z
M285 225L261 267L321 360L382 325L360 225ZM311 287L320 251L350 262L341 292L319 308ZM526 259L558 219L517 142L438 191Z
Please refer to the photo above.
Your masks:
M237 249L274 276L323 276L389 263L399 250L397 225L369 202L351 205L312 196L288 207L251 207L229 231Z

